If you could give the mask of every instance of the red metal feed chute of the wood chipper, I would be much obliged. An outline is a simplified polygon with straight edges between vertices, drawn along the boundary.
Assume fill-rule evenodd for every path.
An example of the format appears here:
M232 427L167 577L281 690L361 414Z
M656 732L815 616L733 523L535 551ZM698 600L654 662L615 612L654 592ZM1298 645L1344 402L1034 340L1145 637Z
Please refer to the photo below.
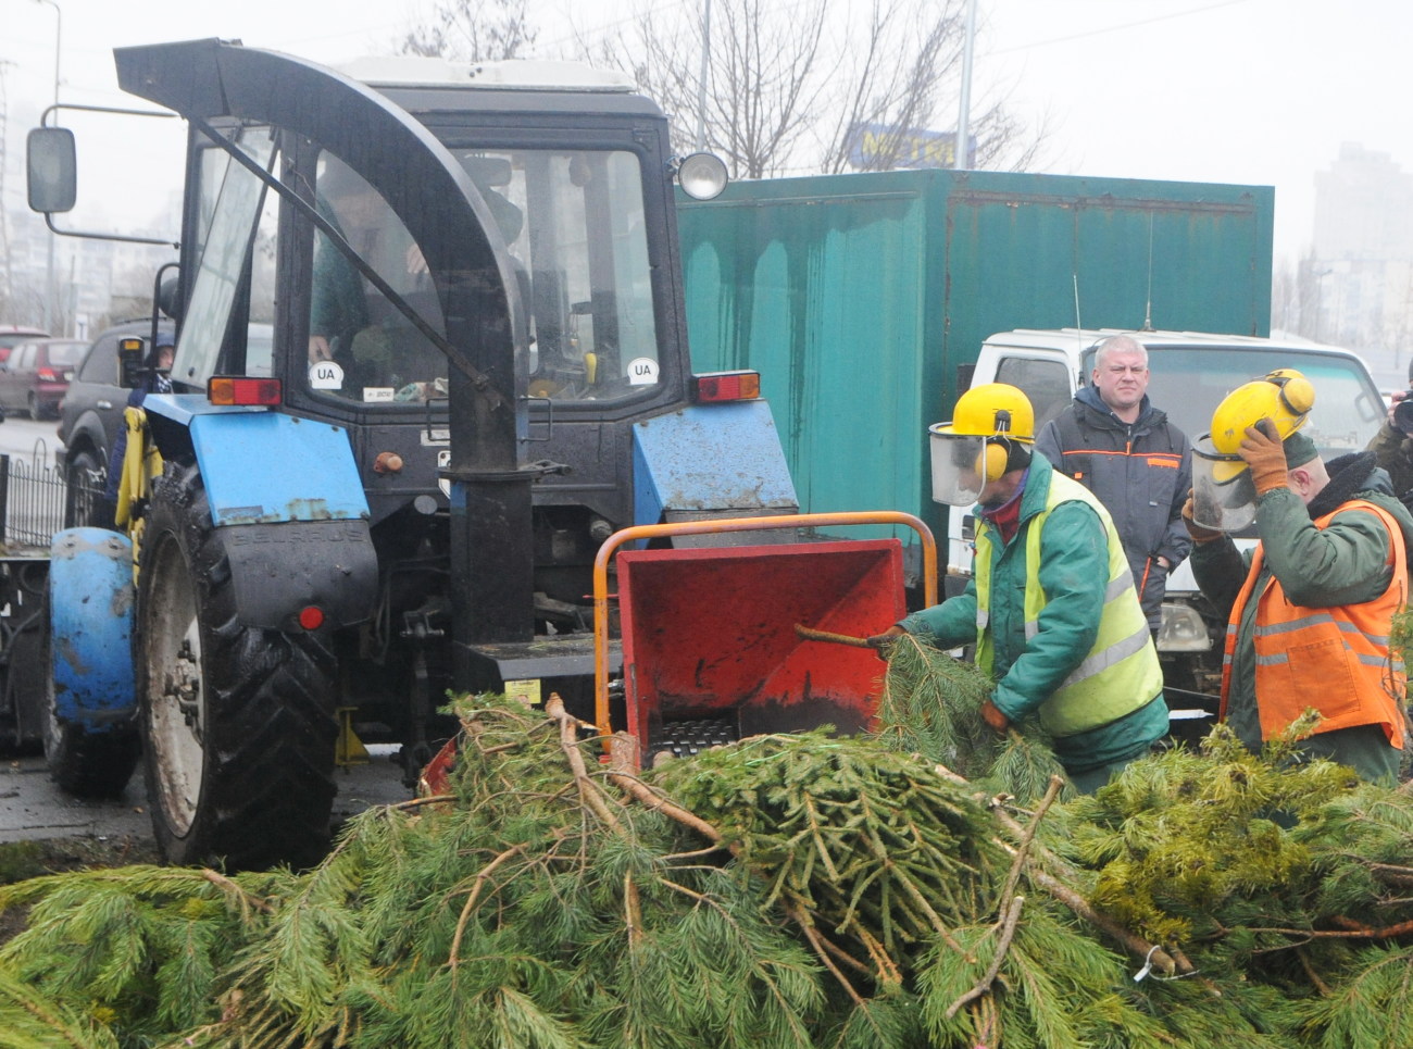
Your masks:
M623 550L617 571L627 728L644 763L671 749L674 725L702 718L736 737L872 718L877 655L794 628L868 636L900 619L899 540Z

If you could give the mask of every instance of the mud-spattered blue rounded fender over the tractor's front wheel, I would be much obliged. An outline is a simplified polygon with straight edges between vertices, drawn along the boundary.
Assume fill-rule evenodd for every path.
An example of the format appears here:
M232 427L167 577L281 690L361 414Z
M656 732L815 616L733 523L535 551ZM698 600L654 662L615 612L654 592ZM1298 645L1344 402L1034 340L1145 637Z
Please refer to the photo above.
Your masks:
M131 720L133 544L105 529L65 529L49 543L49 673L54 713L88 732Z

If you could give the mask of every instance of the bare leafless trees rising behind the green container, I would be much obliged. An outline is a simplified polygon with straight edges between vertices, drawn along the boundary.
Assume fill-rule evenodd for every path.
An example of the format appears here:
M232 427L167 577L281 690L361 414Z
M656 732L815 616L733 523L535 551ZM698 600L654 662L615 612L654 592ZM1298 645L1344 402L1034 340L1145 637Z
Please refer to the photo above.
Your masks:
M738 177L883 170L916 163L916 143L955 105L964 0L872 0L862 13L834 0L796 4L711 0L705 98L701 16L646 10L591 58L630 74L674 119L680 140L705 124L711 148ZM972 117L976 167L1027 164L1043 134L999 102ZM872 129L861 156L858 136ZM935 167L937 163L928 165Z

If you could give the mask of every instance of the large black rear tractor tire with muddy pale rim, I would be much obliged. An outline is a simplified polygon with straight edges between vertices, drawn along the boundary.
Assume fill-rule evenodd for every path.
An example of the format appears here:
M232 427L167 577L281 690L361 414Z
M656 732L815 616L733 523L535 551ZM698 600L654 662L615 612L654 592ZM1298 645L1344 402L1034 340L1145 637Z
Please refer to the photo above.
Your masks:
M318 862L336 787L338 664L315 633L243 626L195 465L153 491L137 686L153 830L174 864Z

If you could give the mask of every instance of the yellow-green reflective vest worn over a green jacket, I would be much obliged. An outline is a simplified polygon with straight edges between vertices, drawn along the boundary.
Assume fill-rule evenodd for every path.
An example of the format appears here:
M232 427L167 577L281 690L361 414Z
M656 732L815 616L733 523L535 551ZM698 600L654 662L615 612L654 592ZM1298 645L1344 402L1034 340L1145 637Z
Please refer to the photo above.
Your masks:
M1149 704L1163 690L1163 669L1149 635L1147 618L1133 590L1133 574L1109 512L1084 485L1060 472L1050 475L1046 508L1023 524L1026 529L1026 639L1040 629L1040 612L1048 598L1040 587L1040 533L1056 506L1082 502L1099 515L1109 554L1109 584L1104 591L1099 633L1084 660L1040 704L1040 724L1051 735L1075 735L1118 721ZM993 527L976 534L976 666L992 673L995 646L986 629L991 614L991 563Z

